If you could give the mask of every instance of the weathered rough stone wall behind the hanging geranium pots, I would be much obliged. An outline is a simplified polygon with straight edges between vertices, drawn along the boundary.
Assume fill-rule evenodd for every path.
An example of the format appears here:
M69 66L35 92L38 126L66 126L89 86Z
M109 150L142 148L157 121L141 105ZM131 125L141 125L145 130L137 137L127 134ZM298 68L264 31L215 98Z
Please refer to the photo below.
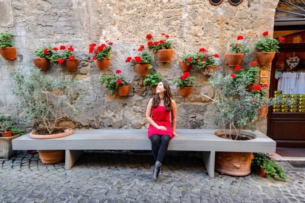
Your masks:
M207 0L12 0L15 25L9 32L15 36L18 56L14 61L0 58L0 113L17 114L13 101L18 98L11 92L10 70L22 66L22 71L27 72L33 66L34 50L43 44L74 45L81 59L76 72L52 65L43 74L71 75L88 87L90 96L81 102L84 109L77 117L76 127L147 128L145 109L153 91L143 86L143 77L138 77L125 63L127 56L139 55L138 47L147 43L146 34L151 33L157 40L160 33L170 35L175 51L171 62L160 63L152 54L153 69L169 81L182 74L178 61L183 54L197 52L202 47L220 55L218 71L232 71L224 60L230 42L237 35L245 37L251 52L246 54L242 65L248 66L255 59L253 44L261 33L267 30L272 36L277 4L278 0L248 0L238 6L226 0L217 6ZM2 27L0 31L5 29ZM88 54L88 45L107 39L114 43L109 70L97 70ZM270 71L270 66L261 68ZM131 91L124 98L109 93L99 83L101 75L112 74L117 69L122 70L131 84ZM192 69L190 73L196 77L196 86L189 97L180 96L178 89L171 86L178 104L177 128L216 128L214 105L200 95L213 98L214 92L200 70ZM266 133L266 126L266 119L260 121L260 131Z

